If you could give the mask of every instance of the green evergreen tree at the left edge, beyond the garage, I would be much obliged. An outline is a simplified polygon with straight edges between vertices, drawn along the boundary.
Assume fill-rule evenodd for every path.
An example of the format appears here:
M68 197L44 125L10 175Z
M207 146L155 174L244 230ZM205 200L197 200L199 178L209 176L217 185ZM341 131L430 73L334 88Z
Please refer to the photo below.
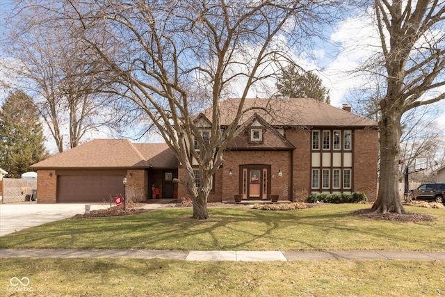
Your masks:
M9 93L0 110L0 164L8 177L20 177L44 159L44 136L33 99L23 91Z

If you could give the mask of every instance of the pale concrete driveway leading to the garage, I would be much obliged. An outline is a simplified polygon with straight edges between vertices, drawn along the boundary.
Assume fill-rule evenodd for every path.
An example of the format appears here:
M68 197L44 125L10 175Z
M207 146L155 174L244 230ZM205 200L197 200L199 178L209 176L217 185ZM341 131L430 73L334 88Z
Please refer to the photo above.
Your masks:
M90 210L107 209L110 203L57 203L36 204L35 202L0 204L0 236L29 227L63 220L85 213L85 204Z

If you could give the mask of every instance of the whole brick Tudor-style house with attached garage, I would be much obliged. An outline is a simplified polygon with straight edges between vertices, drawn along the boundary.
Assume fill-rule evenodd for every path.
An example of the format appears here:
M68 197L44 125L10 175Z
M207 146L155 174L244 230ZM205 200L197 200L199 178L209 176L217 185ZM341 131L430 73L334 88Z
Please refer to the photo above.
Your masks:
M221 102L222 129L234 119L238 104L239 99ZM354 191L375 200L376 122L350 113L349 106L337 109L314 99L246 99L243 109L209 202L234 200L234 195L298 200L310 193ZM204 138L210 136L211 115L207 109L195 118ZM184 179L184 170L166 144L95 140L32 168L38 170L39 203L102 202L124 191L136 200L187 195L172 182ZM197 170L195 182L200 182Z

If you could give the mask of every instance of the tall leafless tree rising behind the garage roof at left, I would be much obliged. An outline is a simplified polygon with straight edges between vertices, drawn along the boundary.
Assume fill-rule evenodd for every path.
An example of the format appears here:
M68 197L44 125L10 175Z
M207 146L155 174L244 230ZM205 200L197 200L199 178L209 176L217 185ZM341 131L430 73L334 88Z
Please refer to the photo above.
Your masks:
M3 67L20 78L16 88L36 98L58 152L63 152L66 144L76 147L88 131L108 125L111 116L108 98L97 92L100 82L90 73L88 49L67 35L69 24L63 19L54 21L49 14L35 6L17 6L11 12L8 34L1 39L14 63L3 63ZM68 141L63 139L65 134Z

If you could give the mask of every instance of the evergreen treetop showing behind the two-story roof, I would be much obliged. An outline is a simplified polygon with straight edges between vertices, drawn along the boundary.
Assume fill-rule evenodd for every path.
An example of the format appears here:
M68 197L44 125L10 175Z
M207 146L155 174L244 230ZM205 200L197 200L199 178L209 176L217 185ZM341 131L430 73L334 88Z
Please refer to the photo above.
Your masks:
M277 79L278 96L289 98L314 98L330 103L329 90L314 72L298 70L295 65L281 69Z

